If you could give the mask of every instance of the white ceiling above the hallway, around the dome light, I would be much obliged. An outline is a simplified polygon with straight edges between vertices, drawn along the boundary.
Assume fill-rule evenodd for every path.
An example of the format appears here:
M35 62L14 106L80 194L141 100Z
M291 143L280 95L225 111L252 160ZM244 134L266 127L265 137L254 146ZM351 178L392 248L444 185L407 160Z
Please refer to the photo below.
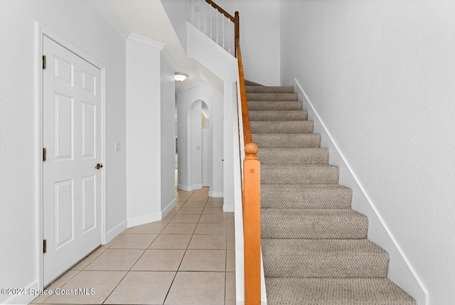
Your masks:
M183 82L176 82L176 90L197 82L205 82L223 92L223 82L220 78L198 61L186 56L160 0L103 1L131 33L166 45L179 72L189 75Z

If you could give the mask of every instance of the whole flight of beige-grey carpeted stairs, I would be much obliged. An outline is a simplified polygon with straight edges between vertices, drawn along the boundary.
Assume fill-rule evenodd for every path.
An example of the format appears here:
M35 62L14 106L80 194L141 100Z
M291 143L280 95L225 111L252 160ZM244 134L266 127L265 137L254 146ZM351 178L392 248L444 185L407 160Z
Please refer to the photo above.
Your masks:
M368 218L302 110L294 87L247 83L261 160L262 255L274 304L411 305L387 279L389 257L367 240Z

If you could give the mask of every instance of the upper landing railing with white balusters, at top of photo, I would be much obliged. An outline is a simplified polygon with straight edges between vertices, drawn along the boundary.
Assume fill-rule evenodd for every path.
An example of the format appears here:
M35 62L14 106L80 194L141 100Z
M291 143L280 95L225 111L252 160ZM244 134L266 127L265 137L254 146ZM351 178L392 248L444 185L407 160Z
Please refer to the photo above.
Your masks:
M235 17L221 14L221 8L213 1L187 0L187 3L188 21L235 56Z

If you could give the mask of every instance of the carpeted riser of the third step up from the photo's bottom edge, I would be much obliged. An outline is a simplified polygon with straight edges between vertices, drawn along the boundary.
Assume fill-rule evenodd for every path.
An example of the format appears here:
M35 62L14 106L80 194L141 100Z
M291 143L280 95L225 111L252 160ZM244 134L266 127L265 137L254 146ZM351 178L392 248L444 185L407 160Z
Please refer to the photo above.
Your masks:
M368 218L298 218L262 215L262 238L304 239L364 239L368 232Z

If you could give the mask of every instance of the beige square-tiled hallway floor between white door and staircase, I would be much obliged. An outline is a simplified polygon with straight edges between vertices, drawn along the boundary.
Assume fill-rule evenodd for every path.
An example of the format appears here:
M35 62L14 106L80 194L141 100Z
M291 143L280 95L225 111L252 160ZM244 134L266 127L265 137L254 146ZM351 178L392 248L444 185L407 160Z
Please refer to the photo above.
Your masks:
M125 230L48 287L95 294L32 304L235 304L234 213L222 206L208 188L178 191L166 218Z

